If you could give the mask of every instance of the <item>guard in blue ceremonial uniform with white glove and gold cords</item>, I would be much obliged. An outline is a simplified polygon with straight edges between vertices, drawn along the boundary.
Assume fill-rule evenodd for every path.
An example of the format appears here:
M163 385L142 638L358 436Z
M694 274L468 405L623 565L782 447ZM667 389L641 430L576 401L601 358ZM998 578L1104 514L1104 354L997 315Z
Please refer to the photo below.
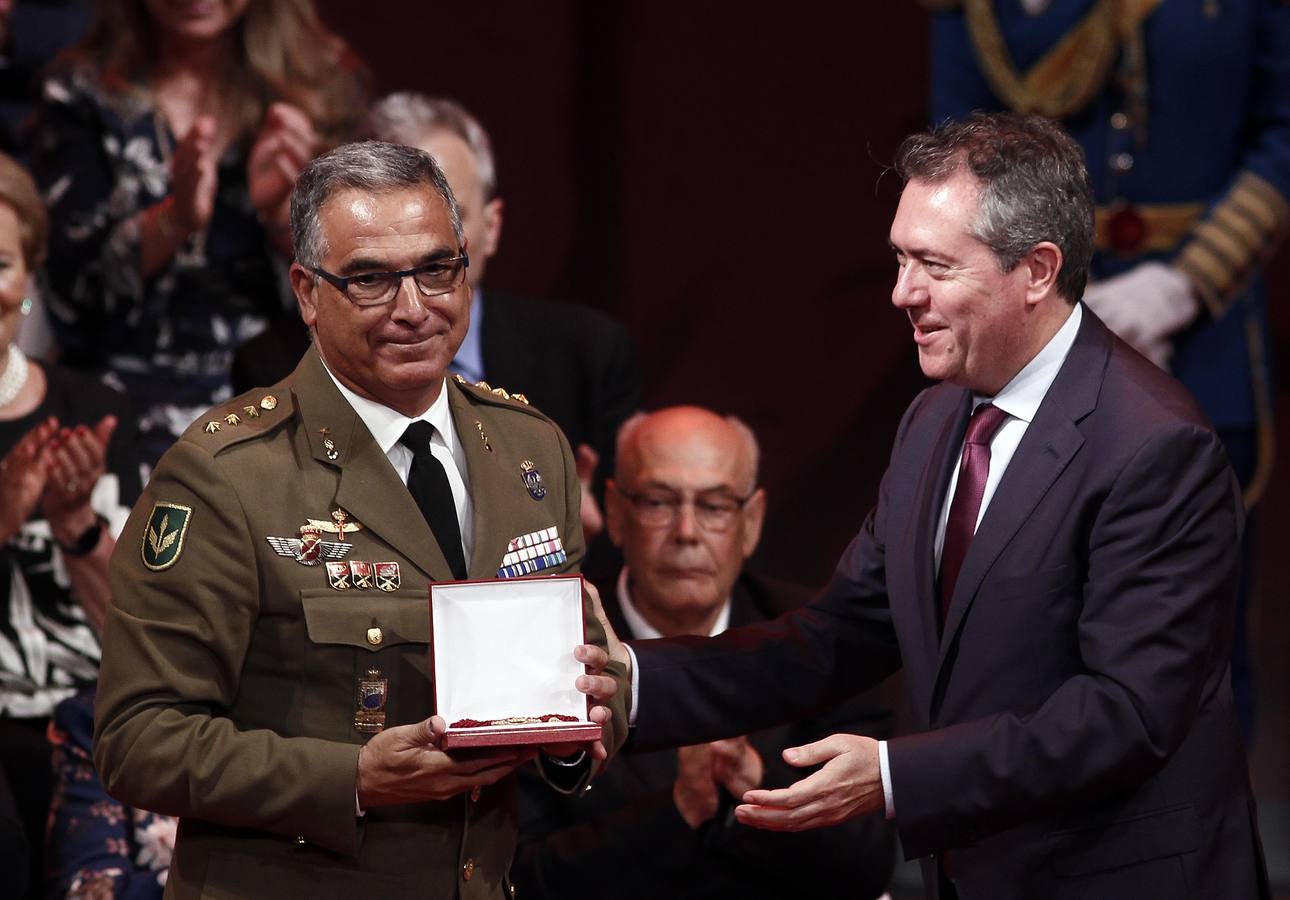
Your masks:
M928 3L933 121L1038 112L1080 142L1098 201L1084 302L1196 396L1253 505L1275 454L1260 263L1290 230L1290 5ZM1232 683L1249 739L1245 560Z

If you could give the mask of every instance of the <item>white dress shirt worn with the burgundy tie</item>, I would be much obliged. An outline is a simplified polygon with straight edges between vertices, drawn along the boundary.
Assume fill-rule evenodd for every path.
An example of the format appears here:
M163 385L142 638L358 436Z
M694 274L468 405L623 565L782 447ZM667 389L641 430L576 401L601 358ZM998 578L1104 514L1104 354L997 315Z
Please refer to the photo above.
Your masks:
M1013 377L1004 388L993 397L977 395L973 397L973 411L982 404L993 404L1007 413L1007 419L998 427L989 441L989 473L986 476L986 493L980 498L980 509L977 512L977 526L986 516L986 507L998 482L1004 478L1007 464L1013 462L1013 454L1026 436L1026 429L1035 420L1040 404L1047 396L1047 389L1053 386L1062 364L1066 362L1067 353L1075 346L1075 335L1080 331L1080 322L1084 311L1080 304L1067 316L1066 322L1058 329L1044 349L1026 364L1026 366ZM960 451L960 455L962 451ZM940 551L946 543L946 521L949 518L949 504L955 496L955 487L958 485L958 465L949 476L949 486L946 489L946 499L940 504L940 518L937 522L937 543L933 548L935 554L935 567L940 571ZM975 530L975 529L974 529ZM895 819L895 798L891 796L891 768L888 765L888 744L878 741L878 766L882 774L882 799L886 803L886 817Z

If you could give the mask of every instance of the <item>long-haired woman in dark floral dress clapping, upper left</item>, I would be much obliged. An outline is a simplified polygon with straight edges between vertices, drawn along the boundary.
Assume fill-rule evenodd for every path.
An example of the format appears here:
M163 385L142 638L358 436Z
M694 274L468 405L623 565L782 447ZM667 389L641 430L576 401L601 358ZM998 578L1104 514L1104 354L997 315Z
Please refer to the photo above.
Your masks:
M147 463L289 308L295 175L361 98L311 0L107 0L45 81L50 316L64 361L130 396Z

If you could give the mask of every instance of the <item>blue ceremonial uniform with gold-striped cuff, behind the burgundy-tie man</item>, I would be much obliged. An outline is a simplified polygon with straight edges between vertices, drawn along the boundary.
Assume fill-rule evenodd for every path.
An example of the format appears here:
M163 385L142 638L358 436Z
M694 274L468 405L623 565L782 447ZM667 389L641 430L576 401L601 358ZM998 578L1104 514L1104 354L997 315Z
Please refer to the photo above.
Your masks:
M1017 106L1015 97L1013 102L1000 97L997 79L989 76L984 58L989 44L973 24L973 6L992 10L1015 71L1029 73L1107 5L1054 0L1029 15L1017 0L969 1L940 12L931 41L934 120ZM1125 36L1121 30L1112 37L1116 46L1098 73L1100 89L1081 108L1063 112L1062 122L1084 147L1099 206L1196 204L1198 215L1175 242L1165 237L1122 251L1099 242L1093 276L1104 279L1147 259L1179 266L1206 309L1175 335L1174 375L1220 431L1253 428L1260 418L1267 426L1269 379L1258 263L1287 222L1290 5L1175 0L1147 12L1130 31L1135 34ZM1138 88L1144 93L1124 77L1135 44L1144 63ZM1146 115L1135 115L1135 106ZM1249 485L1254 473L1242 476Z

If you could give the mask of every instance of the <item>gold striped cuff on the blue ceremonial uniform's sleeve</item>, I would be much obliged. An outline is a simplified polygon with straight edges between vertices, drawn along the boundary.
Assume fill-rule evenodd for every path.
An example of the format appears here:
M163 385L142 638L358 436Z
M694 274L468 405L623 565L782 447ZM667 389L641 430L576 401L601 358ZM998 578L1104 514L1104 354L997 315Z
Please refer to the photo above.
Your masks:
M1210 315L1218 318L1287 231L1290 201L1269 182L1245 171L1196 223L1174 266L1191 279Z

